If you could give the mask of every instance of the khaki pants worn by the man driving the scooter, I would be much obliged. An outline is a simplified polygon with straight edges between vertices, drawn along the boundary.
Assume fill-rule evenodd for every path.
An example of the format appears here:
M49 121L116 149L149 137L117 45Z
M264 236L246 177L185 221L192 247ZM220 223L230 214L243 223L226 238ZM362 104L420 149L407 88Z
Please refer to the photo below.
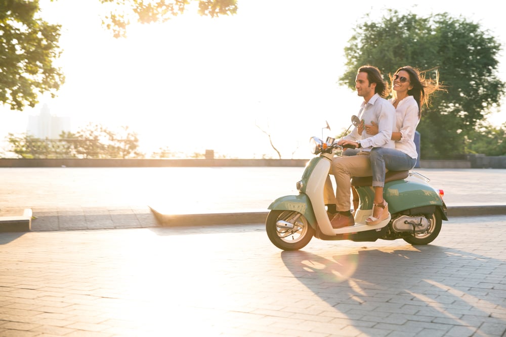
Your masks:
M329 174L335 178L335 195L330 176L325 180L323 199L325 204L335 204L336 210L343 212L351 209L351 177L372 175L369 152L361 151L356 156L334 157Z

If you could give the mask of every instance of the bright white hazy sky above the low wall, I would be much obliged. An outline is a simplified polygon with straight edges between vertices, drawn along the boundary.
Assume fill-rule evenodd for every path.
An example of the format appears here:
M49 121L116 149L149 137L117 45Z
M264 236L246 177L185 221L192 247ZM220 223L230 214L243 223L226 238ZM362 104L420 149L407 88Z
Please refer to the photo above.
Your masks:
M448 12L489 29L506 46L506 23L492 2L419 5L335 0L238 0L230 17L200 17L196 10L164 24L134 25L114 39L101 26L98 0L40 0L41 16L62 25L66 82L35 108L0 108L0 137L26 132L28 116L44 104L69 116L73 132L88 123L114 130L129 126L141 150L236 158L310 158L311 136L335 135L350 125L361 98L338 85L344 47L363 15L385 8L420 16ZM499 76L506 81L505 52ZM506 106L506 102L502 103ZM505 114L489 120L500 125ZM323 129L326 125L328 131Z

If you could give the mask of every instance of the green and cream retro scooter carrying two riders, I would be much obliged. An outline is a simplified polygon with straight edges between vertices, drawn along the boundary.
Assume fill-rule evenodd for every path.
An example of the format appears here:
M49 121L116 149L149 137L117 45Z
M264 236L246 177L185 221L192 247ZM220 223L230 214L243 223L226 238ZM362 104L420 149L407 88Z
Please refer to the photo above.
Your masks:
M355 225L332 228L323 200L323 186L334 152L343 147L330 137L325 142L311 137L310 147L316 157L308 162L302 179L297 182L299 195L280 197L268 207L266 231L277 248L300 250L313 236L355 242L403 239L411 245L427 245L438 236L442 220L448 221L444 191L431 187L429 178L412 171L388 171L384 198L391 217L376 225L366 224L374 201L372 177L352 177L352 186L359 197L353 213Z

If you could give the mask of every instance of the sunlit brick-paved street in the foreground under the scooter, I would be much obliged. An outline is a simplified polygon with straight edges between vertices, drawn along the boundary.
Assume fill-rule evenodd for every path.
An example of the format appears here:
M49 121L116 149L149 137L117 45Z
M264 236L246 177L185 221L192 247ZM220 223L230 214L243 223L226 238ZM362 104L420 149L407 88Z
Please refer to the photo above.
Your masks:
M0 336L505 336L505 248L504 216L298 252L263 224L2 233Z

